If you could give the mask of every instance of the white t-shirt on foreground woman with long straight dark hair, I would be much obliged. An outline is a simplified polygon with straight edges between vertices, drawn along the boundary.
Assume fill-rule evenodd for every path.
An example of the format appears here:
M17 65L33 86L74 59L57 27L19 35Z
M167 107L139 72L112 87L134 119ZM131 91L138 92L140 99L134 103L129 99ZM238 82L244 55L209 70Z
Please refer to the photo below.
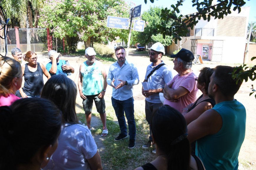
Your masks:
M59 145L52 155L53 169L90 169L87 159L97 153L97 145L87 126L65 124L58 141Z

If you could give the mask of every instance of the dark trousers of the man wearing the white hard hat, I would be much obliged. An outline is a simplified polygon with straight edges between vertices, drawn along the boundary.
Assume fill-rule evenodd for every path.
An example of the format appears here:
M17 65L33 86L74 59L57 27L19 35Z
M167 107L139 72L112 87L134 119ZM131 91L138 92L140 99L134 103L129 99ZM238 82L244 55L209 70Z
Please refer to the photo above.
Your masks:
M151 118L154 115L154 113L161 107L163 106L163 103L151 103L145 100L145 113L146 113L146 120L147 123L149 124L149 140L153 141L152 136L151 136Z

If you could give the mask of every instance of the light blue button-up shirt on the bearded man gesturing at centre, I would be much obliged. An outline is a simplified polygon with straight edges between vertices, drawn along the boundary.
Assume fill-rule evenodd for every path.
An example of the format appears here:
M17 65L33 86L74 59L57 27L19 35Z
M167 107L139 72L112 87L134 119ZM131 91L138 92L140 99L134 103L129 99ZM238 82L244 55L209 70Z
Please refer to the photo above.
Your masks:
M115 86L117 86L121 82L118 81L118 79L127 81L128 85L124 85L119 89L113 88L112 97L116 100L121 101L131 98L133 96L133 85L139 84L139 74L134 64L125 60L122 67L120 67L118 62L115 62L109 67L109 73L107 76L108 85L111 84L113 78L115 79Z

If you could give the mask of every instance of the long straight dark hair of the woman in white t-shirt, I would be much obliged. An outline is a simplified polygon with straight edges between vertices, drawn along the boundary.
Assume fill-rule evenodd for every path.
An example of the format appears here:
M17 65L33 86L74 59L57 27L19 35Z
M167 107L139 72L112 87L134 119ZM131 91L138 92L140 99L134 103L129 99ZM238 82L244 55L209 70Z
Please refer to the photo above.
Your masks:
M41 97L50 99L59 107L66 123L78 123L76 113L77 86L66 75L58 74L46 81Z

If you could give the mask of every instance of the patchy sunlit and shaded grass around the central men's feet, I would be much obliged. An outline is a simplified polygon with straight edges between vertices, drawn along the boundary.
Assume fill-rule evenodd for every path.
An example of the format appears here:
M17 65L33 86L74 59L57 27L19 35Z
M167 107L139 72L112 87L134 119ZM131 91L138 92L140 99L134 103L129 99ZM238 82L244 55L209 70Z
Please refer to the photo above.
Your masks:
M144 106L134 106L134 117L136 123L136 145L134 149L128 149L129 137L121 140L114 141L114 138L120 132L117 118L114 112L114 108L111 104L111 98L106 97L106 114L107 114L107 128L109 134L104 137L104 151L100 153L102 159L103 169L135 169L141 165L151 162L155 159L155 154L152 153L152 149L142 149L142 145L148 141L149 125L145 120ZM142 102L144 103L144 101ZM82 103L81 103L82 105ZM77 104L77 117L82 122L85 122L84 110L80 104ZM99 113L95 106L93 106L92 115L100 119ZM127 122L127 120L126 120ZM92 125L93 126L93 125ZM102 124L94 127L92 135L101 135ZM129 133L127 125L127 133Z

